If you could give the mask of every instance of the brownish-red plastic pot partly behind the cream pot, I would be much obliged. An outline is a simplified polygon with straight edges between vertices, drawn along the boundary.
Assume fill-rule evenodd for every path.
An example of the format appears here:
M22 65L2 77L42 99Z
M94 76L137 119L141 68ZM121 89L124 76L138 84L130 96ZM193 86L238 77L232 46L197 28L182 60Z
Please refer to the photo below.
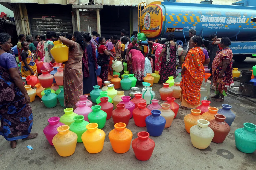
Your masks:
M225 122L226 116L216 114L208 125L214 132L212 142L222 143L229 134L230 126Z

